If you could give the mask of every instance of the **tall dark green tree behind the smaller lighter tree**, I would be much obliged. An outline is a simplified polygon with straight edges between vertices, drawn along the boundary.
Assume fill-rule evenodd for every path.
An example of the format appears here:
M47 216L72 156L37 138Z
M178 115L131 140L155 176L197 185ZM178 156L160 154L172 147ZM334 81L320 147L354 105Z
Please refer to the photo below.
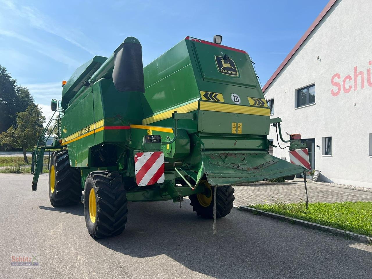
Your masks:
M15 125L17 112L25 111L33 103L29 90L16 82L0 65L0 133Z

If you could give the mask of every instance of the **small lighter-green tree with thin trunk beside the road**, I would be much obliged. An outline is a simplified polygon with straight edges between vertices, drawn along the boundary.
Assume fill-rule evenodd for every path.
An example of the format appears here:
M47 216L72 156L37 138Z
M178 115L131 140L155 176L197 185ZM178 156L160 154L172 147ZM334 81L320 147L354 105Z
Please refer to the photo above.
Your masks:
M6 132L0 134L0 144L11 147L21 147L23 158L28 164L26 148L32 148L38 141L44 130L45 116L42 115L38 105L29 105L26 111L17 112L17 126L10 127Z

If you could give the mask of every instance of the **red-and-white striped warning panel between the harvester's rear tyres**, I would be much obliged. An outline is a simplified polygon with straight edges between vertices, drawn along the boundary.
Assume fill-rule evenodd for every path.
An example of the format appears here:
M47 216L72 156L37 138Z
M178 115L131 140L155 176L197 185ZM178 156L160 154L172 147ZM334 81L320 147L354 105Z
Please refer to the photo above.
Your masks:
M164 182L164 153L138 152L134 155L134 169L138 186Z

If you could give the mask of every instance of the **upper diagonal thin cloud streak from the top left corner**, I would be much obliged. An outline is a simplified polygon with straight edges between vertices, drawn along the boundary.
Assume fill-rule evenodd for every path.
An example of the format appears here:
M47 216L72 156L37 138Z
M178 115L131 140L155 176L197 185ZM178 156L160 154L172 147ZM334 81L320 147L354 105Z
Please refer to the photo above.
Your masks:
M82 45L80 42L77 41L77 38L84 42L88 42L88 45L92 45L92 42L89 42L89 39L84 35L83 32L80 32L76 29L65 29L62 24L57 23L47 15L43 15L39 12L38 9L29 6L16 6L16 4L12 1L1 0L0 3L3 3L3 7L7 8L8 11L13 13L12 17L22 17L27 19L29 25L33 28L37 28L58 36L66 41L70 42L71 44L75 45L78 48L83 49L84 51L89 52L90 54L96 54L97 51L90 49L87 46Z

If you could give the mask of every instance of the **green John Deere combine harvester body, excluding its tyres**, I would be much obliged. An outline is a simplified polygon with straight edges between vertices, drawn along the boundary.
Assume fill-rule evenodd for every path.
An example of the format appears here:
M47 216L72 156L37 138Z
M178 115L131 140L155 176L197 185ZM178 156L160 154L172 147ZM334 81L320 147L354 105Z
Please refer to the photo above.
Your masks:
M205 191L191 188L202 177L222 186L304 170L268 154L270 109L246 52L186 37L144 67L145 93L116 90L114 65L115 54L95 57L63 89L61 147L80 167L82 188L89 172L117 170L129 201L179 201ZM146 143L146 135L162 143ZM137 186L140 151L163 151L164 183Z

